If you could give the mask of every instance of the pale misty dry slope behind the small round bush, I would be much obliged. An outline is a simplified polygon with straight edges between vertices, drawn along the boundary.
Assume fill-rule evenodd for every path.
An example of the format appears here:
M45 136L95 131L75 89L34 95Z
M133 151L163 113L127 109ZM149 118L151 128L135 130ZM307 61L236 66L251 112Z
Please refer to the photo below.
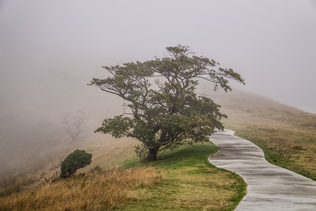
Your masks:
M6 164L6 169L11 170L2 171L0 174L0 197L38 187L45 178L50 178L56 170L59 171L60 162L76 149L85 149L93 155L91 165L79 169L80 173L88 171L91 166L106 169L113 164L120 165L134 158L136 143L136 140L130 138L116 139L111 135L87 131L81 134L77 142L62 142L48 150L38 151L24 160L10 161Z

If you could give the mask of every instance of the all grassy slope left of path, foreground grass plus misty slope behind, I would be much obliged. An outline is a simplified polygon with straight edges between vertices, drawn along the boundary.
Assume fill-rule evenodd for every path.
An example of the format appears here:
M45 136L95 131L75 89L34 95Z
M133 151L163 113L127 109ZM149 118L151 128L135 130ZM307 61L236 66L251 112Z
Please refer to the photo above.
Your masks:
M50 121L54 127L48 128L56 129L48 130L48 136L46 130L39 136L32 133L42 122L29 124L26 132L31 136L23 141L36 139L29 142L35 153L22 164L7 163L13 170L1 172L0 210L233 210L244 196L246 188L239 176L208 163L209 154L218 150L211 143L165 152L163 160L135 167L137 142L93 133L105 115L100 110L88 112L92 117L75 142L63 134L58 120ZM45 138L56 142L37 148L39 140L47 142ZM91 165L73 178L52 182L60 161L75 149L92 153ZM112 165L116 167L108 169ZM111 179L112 175L118 179Z

